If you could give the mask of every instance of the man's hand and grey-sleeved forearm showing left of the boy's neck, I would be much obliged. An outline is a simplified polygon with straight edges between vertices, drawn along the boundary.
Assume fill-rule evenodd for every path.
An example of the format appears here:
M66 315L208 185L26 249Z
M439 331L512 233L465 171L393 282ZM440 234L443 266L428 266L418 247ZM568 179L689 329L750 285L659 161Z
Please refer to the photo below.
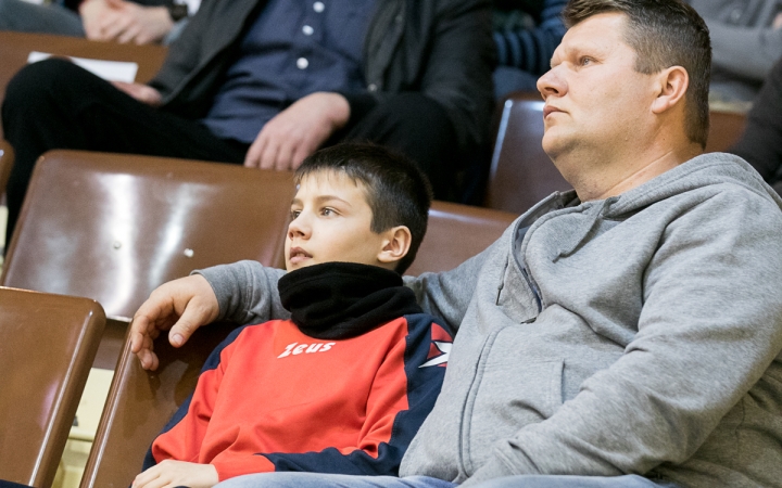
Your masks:
M174 347L185 344L201 325L217 319L258 323L287 319L277 293L283 270L255 261L215 266L157 287L134 316L130 350L146 370L157 369L152 343L163 331Z

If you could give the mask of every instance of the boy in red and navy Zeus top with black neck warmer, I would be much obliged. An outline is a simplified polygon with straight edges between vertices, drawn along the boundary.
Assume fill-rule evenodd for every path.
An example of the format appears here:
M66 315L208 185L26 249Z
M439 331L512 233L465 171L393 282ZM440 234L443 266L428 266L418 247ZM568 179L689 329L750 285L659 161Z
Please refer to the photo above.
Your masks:
M279 281L290 320L240 328L212 352L134 487L272 471L396 475L434 406L452 334L400 274L426 232L424 176L380 146L342 144L307 158L294 181Z

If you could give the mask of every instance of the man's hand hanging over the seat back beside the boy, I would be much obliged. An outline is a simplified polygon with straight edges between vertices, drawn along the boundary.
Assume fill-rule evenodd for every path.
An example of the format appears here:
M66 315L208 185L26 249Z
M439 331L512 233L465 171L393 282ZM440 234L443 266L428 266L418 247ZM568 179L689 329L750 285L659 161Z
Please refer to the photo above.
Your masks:
M153 351L161 331L168 332L172 346L179 347L201 325L217 319L217 297L200 274L169 281L157 287L134 316L130 323L130 350L141 368L156 370L159 360Z

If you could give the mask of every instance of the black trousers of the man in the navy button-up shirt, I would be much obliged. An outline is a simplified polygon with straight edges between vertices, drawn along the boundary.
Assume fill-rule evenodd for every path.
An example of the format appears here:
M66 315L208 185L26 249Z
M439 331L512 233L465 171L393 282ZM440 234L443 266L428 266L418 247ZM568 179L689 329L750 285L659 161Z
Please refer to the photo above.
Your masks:
M417 162L434 196L454 200L456 136L434 101L396 94L341 130L329 144L370 141ZM426 105L426 106L422 106ZM241 164L248 144L215 137L197 120L140 103L73 63L30 64L9 84L2 106L5 139L15 153L7 200L11 237L38 157L73 149Z

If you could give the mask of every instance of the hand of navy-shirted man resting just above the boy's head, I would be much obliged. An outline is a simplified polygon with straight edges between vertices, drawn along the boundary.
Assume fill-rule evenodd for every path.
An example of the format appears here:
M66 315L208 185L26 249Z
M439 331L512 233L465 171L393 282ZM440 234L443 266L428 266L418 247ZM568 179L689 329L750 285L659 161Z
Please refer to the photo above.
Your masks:
M350 118L350 105L338 93L317 92L280 112L261 129L244 166L295 169Z

